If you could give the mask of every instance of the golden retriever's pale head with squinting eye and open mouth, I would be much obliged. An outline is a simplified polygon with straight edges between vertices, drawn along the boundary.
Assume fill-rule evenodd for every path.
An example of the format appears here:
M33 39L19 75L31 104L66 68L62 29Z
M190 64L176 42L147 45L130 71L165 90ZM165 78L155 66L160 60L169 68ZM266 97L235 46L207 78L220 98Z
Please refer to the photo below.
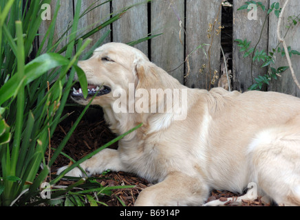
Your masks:
M83 97L81 89L74 89L72 98L85 105L97 93L92 104L108 106L118 98L113 96L116 89L127 92L130 84L136 87L138 64L145 62L150 63L146 55L123 43L107 43L98 47L91 58L78 62L87 77L87 98Z

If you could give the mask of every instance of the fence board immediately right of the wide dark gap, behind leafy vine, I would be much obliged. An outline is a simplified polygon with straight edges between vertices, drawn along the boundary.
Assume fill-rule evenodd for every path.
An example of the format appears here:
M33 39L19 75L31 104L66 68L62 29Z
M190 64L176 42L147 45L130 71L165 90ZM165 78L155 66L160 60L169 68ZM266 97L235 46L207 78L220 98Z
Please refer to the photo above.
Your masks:
M233 1L233 40L242 39L244 41L244 39L247 39L247 41L251 41L250 47L255 47L264 26L260 42L256 49L259 51L265 50L267 52L268 19L265 25L264 21L267 16L269 0L261 0L261 3L266 5L266 11L264 12L261 8L257 8L257 20L249 20L247 10L237 11L238 8L245 4L245 1ZM247 91L248 87L255 83L255 77L266 74L266 68L261 69L262 61L255 61L251 74L252 54L244 58L244 52L239 52L240 47L237 47L237 44L237 42L233 44L233 88L238 91Z

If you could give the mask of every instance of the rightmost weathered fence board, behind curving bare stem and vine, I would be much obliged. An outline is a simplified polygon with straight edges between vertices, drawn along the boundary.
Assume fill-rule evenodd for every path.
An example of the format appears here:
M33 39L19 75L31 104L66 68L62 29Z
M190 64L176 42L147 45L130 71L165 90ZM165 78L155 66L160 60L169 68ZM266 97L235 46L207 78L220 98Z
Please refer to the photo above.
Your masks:
M270 0L270 5L275 2L275 0ZM285 3L283 0L279 0L279 3L281 7ZM280 33L281 37L286 35L286 32L288 31L288 34L286 35L286 44L291 47L292 50L300 51L300 28L299 23L296 27L294 25L291 25L288 20L288 17L290 16L299 16L300 14L300 4L299 1L291 0L289 2L289 5L287 5L288 8L286 8L286 11L283 13L283 19L281 21L280 26ZM276 48L279 41L277 39L277 22L278 19L275 17L275 14L272 13L270 15L270 27L269 27L269 51L272 52L273 48ZM287 26L292 26L293 28L290 28L288 30ZM281 50L283 49L283 45L279 45L281 47ZM298 55L292 55L291 57L292 61L292 67L294 69L294 72L297 76L298 81L300 81L300 62L299 62L299 56ZM280 54L277 54L275 58L275 65L272 65L274 68L282 67L282 66L288 66L288 61L286 60L286 56L282 57ZM300 89L297 87L297 85L294 83L294 80L292 79L292 75L290 72L290 69L288 69L286 72L281 74L282 77L279 77L277 80L272 80L270 83L270 87L268 88L270 91L279 91L285 94L290 94L293 96L300 97Z

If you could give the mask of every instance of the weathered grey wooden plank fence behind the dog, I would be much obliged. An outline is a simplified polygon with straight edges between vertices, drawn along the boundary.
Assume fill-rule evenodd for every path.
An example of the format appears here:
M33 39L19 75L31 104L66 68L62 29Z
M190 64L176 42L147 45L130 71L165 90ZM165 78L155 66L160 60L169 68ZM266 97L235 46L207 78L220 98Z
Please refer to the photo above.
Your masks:
M76 1L61 1L55 30L57 35L63 32L72 21ZM94 1L82 0L82 11ZM104 1L99 1L99 3ZM257 20L250 20L247 10L237 10L245 4L243 0L231 0L227 5L222 5L221 0L152 0L151 3L142 3L131 8L121 19L94 34L92 39L95 43L109 29L111 29L111 35L105 40L106 43L110 41L128 43L145 37L149 33L163 33L151 41L136 45L136 47L147 54L153 63L178 78L182 84L202 89L216 87L218 78L225 73L223 72L224 58L221 50L223 48L228 61L228 72L232 76L232 89L246 91L250 85L255 83L255 78L264 76L268 69L261 68L262 61L255 61L253 74L251 74L251 56L244 58L244 53L239 52L240 48L233 40L247 39L247 41L251 41L251 47L254 47L261 36L257 45L259 52L261 50L272 52L272 49L278 45L278 19L275 17L275 13L272 12L264 23L268 8L275 0L260 1L266 6L265 12L258 8ZM285 2L277 1L281 7ZM109 14L118 12L125 6L141 2L144 0L109 1L85 15L79 23L79 28L96 22L103 23L107 17L109 18ZM54 10L56 0L52 0L51 6ZM288 17L299 16L299 13L299 0L290 0L281 25L282 35L286 33L286 26L290 23ZM299 23L294 28L290 28L286 36L288 45L292 50L297 51L300 51ZM41 36L49 25L50 21L43 21L43 27L40 30ZM287 65L286 58L277 54L275 65L272 67ZM300 56L292 56L292 65L300 80ZM272 80L267 89L300 97L300 89L294 84L290 70L284 72L277 80Z

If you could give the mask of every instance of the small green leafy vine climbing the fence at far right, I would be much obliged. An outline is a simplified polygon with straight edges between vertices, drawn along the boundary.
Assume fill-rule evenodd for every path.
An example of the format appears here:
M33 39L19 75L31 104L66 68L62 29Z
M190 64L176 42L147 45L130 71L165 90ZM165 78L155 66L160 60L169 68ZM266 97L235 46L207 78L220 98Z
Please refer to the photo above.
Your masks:
M264 12L266 11L266 7L259 1L246 1L245 5L242 5L242 7L238 8L237 10L245 10L248 8L248 5L255 4L257 7L261 8ZM275 16L279 18L279 14L281 12L281 8L278 2L272 3L270 5L270 9L266 13L266 18L264 21L264 24L261 28L259 40L255 44L254 47L250 47L251 41L247 41L247 39L235 39L235 41L238 43L237 47L240 47L239 52L244 53L244 58L251 56L251 79L253 85L251 85L248 90L261 90L263 88L263 85L269 85L269 82L271 79L277 80L277 76L280 76L283 72L285 72L289 67L279 67L277 69L270 67L270 65L275 64L275 54L281 54L281 56L285 56L286 53L284 52L283 48L279 47L281 45L281 42L278 43L277 47L273 48L270 52L266 52L265 50L257 50L257 45L261 41L261 36L264 30L264 26L266 25L266 22L268 21L268 18L270 16L270 13L274 12ZM299 19L300 14L296 16L289 17L288 21L290 22L290 25L288 25L288 30L286 31L286 35L288 34L288 31L293 26L297 25L298 22L300 22ZM292 55L300 55L300 52L297 50L292 50L291 47L288 47L288 51L290 56ZM261 65L261 68L268 67L268 74L264 74L264 76L257 76L257 78L253 77L253 63L254 61L263 61L264 63Z

